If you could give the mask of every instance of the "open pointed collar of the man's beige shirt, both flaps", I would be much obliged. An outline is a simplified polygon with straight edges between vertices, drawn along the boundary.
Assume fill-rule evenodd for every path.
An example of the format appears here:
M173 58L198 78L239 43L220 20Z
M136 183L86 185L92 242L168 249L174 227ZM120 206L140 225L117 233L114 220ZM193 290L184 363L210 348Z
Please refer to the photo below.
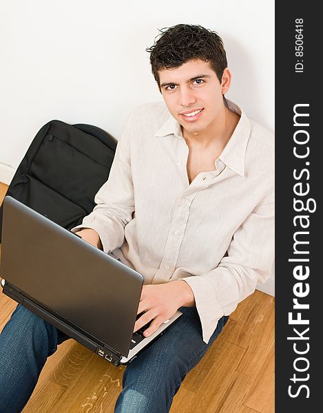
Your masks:
M236 129L225 149L223 149L219 159L227 165L230 169L238 173L240 176L244 176L245 167L245 155L247 150L247 144L251 132L250 121L242 109L233 103L231 100L225 98L225 105L236 114L240 115L240 120ZM155 132L154 136L167 136L174 135L177 138L183 138L180 124L173 116L169 116L166 122Z

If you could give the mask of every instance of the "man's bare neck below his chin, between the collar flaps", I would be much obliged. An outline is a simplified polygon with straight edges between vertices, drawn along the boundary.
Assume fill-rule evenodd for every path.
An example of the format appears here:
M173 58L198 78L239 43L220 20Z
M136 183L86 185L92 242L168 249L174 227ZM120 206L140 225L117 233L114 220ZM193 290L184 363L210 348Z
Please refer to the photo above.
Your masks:
M210 127L207 131L189 134L181 127L183 138L185 138L189 147L196 147L196 149L205 150L209 147L224 149L239 120L240 116L238 114L231 112L230 109L223 105L220 113L213 120L213 123L209 125Z

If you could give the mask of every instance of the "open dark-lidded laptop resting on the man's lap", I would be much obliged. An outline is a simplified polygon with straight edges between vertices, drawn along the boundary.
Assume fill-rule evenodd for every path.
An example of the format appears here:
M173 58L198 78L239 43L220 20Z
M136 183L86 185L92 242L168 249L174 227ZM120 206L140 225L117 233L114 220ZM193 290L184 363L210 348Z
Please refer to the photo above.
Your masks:
M143 275L7 195L3 293L114 366L134 360L182 315L149 337L134 331Z

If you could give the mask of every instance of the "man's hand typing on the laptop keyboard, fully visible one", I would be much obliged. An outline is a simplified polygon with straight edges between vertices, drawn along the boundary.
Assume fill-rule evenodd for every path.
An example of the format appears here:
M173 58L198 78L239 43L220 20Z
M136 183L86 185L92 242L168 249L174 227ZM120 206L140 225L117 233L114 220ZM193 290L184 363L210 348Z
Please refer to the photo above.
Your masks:
M143 333L149 337L183 306L195 306L194 294L187 282L178 279L165 284L143 286L137 314L145 313L136 321L134 332L153 320Z

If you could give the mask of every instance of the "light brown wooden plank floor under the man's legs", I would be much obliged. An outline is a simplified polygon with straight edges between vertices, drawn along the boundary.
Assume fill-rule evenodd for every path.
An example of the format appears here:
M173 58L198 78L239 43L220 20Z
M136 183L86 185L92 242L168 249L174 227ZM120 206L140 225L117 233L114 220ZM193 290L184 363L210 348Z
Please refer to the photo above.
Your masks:
M0 204L6 189L0 183ZM0 294L0 331L16 305ZM273 297L258 290L239 304L187 374L171 413L274 412L274 305ZM48 358L23 413L113 412L123 370L67 340Z

